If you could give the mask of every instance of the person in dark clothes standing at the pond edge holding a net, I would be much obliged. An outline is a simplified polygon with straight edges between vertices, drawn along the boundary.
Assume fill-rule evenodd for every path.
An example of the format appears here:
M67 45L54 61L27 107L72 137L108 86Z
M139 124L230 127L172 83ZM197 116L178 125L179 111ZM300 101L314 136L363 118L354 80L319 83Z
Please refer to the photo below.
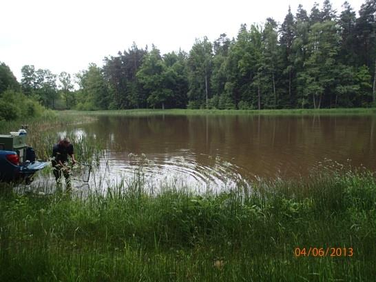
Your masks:
M61 174L63 174L67 186L66 191L70 192L72 184L70 183L70 169L67 166L68 156L72 158L73 164L76 163L73 145L70 143L70 140L65 137L52 148L52 170L58 187L61 185Z

